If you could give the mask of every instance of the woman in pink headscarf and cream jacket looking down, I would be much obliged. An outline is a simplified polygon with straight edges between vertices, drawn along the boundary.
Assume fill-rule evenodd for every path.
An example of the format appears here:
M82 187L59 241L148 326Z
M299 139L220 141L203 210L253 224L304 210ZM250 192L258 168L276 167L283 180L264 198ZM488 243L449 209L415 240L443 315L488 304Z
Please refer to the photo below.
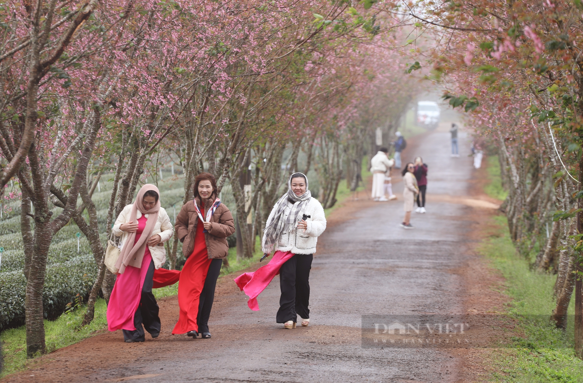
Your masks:
M110 331L122 329L125 342L145 341L142 324L153 338L160 334L153 276L154 269L166 262L164 242L174 228L160 207L159 193L155 185L145 184L113 227L113 234L121 236L121 253L115 264L119 274L107 305L107 325Z

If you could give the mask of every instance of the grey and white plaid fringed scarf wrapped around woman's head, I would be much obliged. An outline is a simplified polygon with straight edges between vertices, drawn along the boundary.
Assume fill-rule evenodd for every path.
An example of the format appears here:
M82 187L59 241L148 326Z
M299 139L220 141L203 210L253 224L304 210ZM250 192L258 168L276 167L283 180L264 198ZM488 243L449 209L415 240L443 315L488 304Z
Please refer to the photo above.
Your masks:
M287 180L287 193L283 194L279 201L277 201L275 204L275 214L273 214L271 220L265 224L262 250L266 254L271 254L273 248L275 248L279 240L282 238L284 232L291 232L296 228L297 222L301 220L301 213L304 211L305 206L312 197L310 190L308 190L308 177L305 175L303 176L305 177L305 193L298 197L291 191L290 176ZM293 206L291 207L290 214L287 215L287 218L283 218L283 211L287 207L287 201L293 203Z

